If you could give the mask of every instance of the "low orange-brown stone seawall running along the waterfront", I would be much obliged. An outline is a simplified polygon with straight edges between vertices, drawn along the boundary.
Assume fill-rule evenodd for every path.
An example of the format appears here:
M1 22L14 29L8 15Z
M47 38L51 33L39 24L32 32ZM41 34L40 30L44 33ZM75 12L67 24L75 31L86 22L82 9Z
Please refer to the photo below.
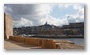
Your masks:
M9 40L21 42L28 45L41 46L42 49L83 49L83 46L76 45L68 40L50 40L44 38L25 38L21 36L9 36Z

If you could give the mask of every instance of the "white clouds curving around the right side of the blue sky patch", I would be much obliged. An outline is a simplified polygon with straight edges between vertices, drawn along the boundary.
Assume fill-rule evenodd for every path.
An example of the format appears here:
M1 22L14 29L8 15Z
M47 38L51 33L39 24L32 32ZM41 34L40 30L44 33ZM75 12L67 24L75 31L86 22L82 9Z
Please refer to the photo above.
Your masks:
M69 23L74 22L84 22L84 4L59 4L58 7L64 9L73 8L73 11L76 11L73 14L65 14Z

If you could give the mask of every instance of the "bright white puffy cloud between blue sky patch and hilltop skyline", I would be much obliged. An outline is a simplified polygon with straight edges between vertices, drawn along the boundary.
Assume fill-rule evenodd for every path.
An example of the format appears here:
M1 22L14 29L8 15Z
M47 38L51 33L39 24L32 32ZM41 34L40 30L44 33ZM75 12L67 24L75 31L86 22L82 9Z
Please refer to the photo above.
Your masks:
M52 16L47 16L45 19L41 19L40 20L42 23L44 22L48 22L48 24L51 24L51 25L56 25L56 26L62 26L62 25L67 25L68 24L68 21L67 19L60 19L60 18L55 18L55 17L52 17Z

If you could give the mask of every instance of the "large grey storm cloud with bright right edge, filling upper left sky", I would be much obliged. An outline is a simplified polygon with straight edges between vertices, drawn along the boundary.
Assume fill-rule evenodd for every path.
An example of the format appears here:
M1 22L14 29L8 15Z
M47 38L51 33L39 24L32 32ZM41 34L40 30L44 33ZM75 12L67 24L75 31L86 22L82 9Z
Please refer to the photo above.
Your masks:
M11 15L14 21L20 21L21 18L25 18L32 21L33 25L38 25L42 24L39 21L40 19L45 19L50 14L51 8L51 4L6 4L4 12ZM17 24L14 23L14 25Z

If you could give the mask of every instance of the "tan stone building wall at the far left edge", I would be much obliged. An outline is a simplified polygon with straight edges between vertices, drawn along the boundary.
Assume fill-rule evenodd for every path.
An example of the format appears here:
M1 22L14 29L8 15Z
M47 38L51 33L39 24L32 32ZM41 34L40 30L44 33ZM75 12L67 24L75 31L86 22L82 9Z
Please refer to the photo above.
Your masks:
M13 36L13 20L4 13L4 39L9 39L9 36Z

